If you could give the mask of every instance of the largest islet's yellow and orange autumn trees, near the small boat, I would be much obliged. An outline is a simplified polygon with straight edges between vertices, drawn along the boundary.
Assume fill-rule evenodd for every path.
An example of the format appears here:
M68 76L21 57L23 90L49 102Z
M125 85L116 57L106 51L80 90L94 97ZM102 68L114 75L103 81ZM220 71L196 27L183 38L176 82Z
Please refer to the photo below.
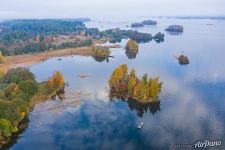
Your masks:
M136 70L128 74L127 65L118 66L109 79L110 97L134 99L140 103L157 101L162 82L157 78L148 78L147 74L137 78Z

